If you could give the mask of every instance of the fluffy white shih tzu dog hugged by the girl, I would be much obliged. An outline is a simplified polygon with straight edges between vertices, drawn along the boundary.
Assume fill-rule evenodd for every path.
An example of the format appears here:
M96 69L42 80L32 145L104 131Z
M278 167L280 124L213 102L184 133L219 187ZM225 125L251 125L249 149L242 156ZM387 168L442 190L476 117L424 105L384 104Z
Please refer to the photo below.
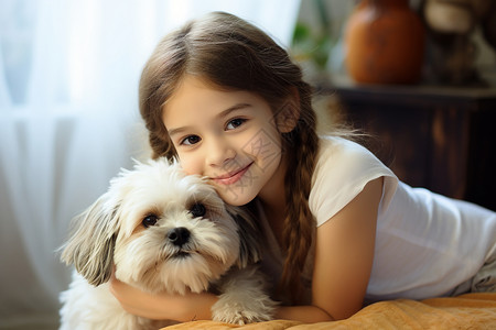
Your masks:
M61 294L61 329L158 329L126 312L109 292L115 276L149 293L216 293L214 320L270 320L276 302L265 293L257 228L241 208L224 204L204 178L165 158L123 169L82 216L61 249L75 266Z

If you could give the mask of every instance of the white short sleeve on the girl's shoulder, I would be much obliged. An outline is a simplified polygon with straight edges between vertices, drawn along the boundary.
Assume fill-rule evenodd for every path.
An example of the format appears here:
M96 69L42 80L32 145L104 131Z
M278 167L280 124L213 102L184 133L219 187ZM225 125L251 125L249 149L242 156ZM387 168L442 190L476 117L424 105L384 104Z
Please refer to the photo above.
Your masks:
M362 145L335 136L321 138L309 207L321 226L352 201L373 179L385 177L379 212L387 209L398 178Z

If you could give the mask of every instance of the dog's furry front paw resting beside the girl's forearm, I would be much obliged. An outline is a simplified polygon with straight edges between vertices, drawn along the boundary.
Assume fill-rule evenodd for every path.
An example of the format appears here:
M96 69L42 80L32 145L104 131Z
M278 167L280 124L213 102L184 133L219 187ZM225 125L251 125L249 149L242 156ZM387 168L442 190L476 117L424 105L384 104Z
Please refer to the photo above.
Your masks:
M233 297L220 296L212 308L214 321L233 324L248 324L254 322L270 321L277 302L269 297L259 297L255 301L233 300Z

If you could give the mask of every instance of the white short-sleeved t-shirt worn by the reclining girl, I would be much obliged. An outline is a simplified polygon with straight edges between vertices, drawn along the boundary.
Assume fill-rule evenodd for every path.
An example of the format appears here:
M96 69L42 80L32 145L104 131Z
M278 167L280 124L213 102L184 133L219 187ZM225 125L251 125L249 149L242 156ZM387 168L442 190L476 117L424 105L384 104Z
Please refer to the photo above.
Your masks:
M369 151L345 139L322 138L317 157L309 197L317 227L352 201L368 182L384 177L368 300L448 295L495 253L495 212L411 188ZM282 253L267 219L261 220L268 233L262 267L279 278ZM303 274L308 298L312 268L313 253Z

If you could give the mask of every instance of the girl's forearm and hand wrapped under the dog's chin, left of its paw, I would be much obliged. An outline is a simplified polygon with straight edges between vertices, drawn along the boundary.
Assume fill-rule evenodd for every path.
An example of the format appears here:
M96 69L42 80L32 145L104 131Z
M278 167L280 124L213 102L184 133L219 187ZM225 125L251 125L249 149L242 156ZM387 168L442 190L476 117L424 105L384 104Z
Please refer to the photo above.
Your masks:
M153 320L208 320L212 319L211 308L217 301L217 297L208 293L183 296L144 293L117 279L115 272L109 284L110 293L127 312Z

